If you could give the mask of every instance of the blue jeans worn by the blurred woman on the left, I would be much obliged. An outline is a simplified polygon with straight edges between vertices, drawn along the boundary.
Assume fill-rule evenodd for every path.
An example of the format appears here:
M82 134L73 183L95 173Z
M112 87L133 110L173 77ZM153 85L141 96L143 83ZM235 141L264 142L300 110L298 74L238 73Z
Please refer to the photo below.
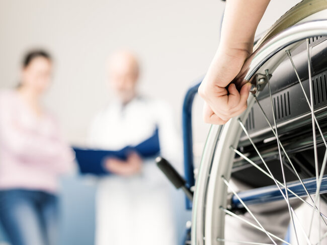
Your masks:
M54 245L57 197L43 191L0 191L0 221L12 245Z

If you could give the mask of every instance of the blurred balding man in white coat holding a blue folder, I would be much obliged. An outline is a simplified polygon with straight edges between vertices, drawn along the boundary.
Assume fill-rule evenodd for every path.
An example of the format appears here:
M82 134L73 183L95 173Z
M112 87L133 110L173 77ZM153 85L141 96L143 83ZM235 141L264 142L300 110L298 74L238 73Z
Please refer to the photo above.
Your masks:
M137 93L139 65L135 56L116 52L108 68L115 100L94 119L92 146L119 150L157 132L160 154L176 162L181 150L172 113L166 104ZM96 244L176 244L169 183L154 158L142 159L130 152L126 160L108 158L104 165L113 174L103 178L98 187Z

